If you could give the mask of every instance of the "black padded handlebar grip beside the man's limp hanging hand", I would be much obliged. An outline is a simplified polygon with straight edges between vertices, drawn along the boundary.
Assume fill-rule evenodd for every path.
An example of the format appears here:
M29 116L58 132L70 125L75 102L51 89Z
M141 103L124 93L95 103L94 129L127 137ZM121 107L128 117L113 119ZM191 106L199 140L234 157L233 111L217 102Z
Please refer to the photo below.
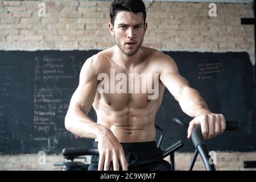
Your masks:
M97 147L76 147L64 148L62 151L64 158L81 155L99 155Z

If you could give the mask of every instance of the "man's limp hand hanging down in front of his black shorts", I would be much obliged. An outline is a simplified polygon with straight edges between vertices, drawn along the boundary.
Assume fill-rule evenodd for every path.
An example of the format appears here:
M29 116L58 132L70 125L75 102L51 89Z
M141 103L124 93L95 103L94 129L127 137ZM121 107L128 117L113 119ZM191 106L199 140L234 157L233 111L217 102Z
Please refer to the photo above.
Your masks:
M98 138L98 152L100 153L98 171L102 171L103 169L104 171L109 171L110 162L113 163L114 171L119 171L119 162L121 163L122 171L127 171L128 164L125 158L125 152L117 138L107 128L104 129L104 133L102 134Z

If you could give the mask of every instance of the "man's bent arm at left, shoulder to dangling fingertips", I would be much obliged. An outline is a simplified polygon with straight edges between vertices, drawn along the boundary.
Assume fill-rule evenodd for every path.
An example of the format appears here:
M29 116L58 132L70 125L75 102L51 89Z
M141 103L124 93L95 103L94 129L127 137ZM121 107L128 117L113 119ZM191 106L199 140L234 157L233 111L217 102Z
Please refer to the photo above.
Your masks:
M100 159L98 170L109 170L110 162L113 162L114 170L119 170L119 161L122 169L127 170L127 162L121 144L115 138L112 131L88 117L94 97L97 92L98 73L102 72L102 63L99 64L97 56L85 61L80 72L79 86L71 98L71 102L65 116L65 127L73 134L83 138L98 140ZM104 68L103 68L104 69Z

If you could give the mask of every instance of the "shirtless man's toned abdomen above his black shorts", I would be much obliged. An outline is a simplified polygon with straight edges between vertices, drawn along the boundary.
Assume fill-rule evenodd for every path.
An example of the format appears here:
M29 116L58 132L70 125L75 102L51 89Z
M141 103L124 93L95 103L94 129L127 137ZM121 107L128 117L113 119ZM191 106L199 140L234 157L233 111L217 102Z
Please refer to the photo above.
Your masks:
M121 143L155 141L154 109L125 107L119 111L96 110L97 123L109 128ZM151 110L151 111L150 111Z

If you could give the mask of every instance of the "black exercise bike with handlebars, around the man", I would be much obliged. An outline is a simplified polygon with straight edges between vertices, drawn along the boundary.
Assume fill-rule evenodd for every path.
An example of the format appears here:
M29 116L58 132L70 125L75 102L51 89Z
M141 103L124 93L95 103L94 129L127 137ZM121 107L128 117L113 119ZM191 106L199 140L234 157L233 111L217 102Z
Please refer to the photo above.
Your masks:
M188 124L181 121L178 118L173 118L173 121L179 123L179 125L188 128ZM155 125L155 128L160 132L160 138L158 140L157 147L160 147L162 140L163 140L163 130L158 125ZM227 130L237 130L238 129L238 122L236 121L226 121L226 131ZM207 171L215 171L216 168L213 163L209 163L210 156L207 149L207 145L203 140L203 136L201 134L201 127L197 125L195 129L192 131L192 142L195 146L195 153L192 158L192 162L188 168L189 171L192 171L193 166L196 162L197 155L200 154L201 159L203 160L205 169ZM170 147L163 150L163 157L170 155L170 162L171 162L171 170L175 171L175 151L179 150L183 147L184 144L179 140L176 143L172 144ZM81 158L81 156L85 155L99 155L98 148L96 147L75 147L75 148L64 148L62 151L62 155L65 159L71 160L71 162L62 162L62 163L55 163L55 166L61 166L62 171L86 171L88 170L89 164L86 164L86 161L83 162L75 162L74 159ZM85 158L84 158L85 159ZM113 170L113 167L110 166L110 171Z

